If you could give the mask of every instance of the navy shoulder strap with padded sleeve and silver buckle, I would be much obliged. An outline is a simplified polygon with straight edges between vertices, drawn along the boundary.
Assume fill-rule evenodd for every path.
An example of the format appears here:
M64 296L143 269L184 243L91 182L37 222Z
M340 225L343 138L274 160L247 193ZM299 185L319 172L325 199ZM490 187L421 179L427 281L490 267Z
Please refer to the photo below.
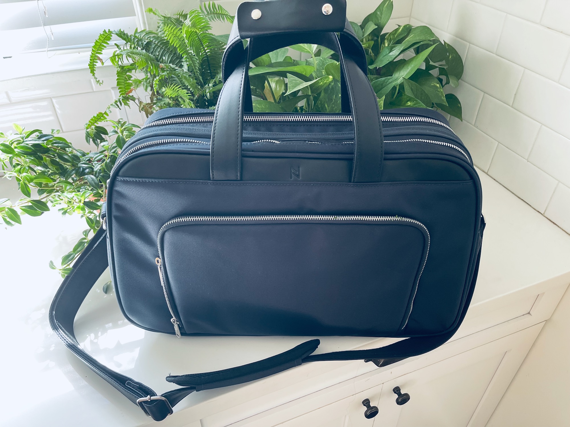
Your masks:
M481 237L483 228L484 221L482 220ZM305 362L316 362L318 360L365 359L365 362L374 362L377 366L386 366L398 360L433 350L445 343L455 332L453 330L447 334L437 336L408 338L386 347L374 348L373 350L337 351L316 355L312 355L312 352L316 350L320 342L318 339L312 339L281 354L259 360L259 362L223 369L222 371L168 376L166 377L167 381L183 387L157 395L153 389L143 383L121 375L97 362L79 346L75 338L73 324L79 306L86 298L87 293L95 284L97 278L101 276L108 266L106 237L107 231L103 228L99 229L78 260L75 261L71 273L63 280L62 285L55 294L54 301L51 303L49 313L50 326L67 348L82 359L89 368L123 393L132 403L139 405L145 414L152 417L155 421L164 420L164 418L172 414L174 405L194 391L246 383L285 371ZM474 264L471 286L458 324L465 317L467 307L469 307L469 302L473 295L480 256L481 239L479 239L477 262Z

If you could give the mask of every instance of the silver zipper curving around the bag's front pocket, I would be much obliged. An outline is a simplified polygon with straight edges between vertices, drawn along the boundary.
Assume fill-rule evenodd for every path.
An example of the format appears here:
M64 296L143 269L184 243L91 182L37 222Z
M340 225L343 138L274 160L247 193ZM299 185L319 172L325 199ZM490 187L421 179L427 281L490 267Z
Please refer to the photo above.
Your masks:
M160 231L158 231L158 238L157 238L157 245L158 245L158 253L160 251L160 242L162 240L162 236L164 235L166 228L168 228L172 224L176 223L185 223L185 222L193 222L193 221L295 221L295 220L329 220L329 221L408 221L410 223L414 223L420 225L420 227L424 228L427 235L427 250L426 256L424 258L424 264L420 270L420 274L418 275L418 280L416 281L416 285L414 287L414 295L412 297L412 302L410 303L410 309L408 311L408 316L406 317L406 322L401 329L404 329L406 325L408 325L408 321L410 319L410 315L412 314L412 308L414 305L414 299L416 299L416 294L418 291L418 285L420 284L420 278L422 277L422 273L424 272L424 268L427 262L427 255L429 254L430 248L430 235L429 231L424 224L420 221L415 219L411 219L405 216L372 216L372 215L259 215L259 216L180 216L174 219L171 219L166 224L162 225ZM168 309L170 310L170 314L172 314L172 319L170 321L174 325L174 330L177 331L177 335L180 334L180 330L178 330L178 321L174 316L174 311L172 310L172 306L170 305L170 299L168 297L168 291L166 291L166 285L164 283L164 277L162 277L162 262L160 258L156 258L156 264L158 265L158 274L160 275L160 281L162 284L162 289L164 290L164 298L166 298L166 305L168 305ZM179 335L178 335L179 336Z

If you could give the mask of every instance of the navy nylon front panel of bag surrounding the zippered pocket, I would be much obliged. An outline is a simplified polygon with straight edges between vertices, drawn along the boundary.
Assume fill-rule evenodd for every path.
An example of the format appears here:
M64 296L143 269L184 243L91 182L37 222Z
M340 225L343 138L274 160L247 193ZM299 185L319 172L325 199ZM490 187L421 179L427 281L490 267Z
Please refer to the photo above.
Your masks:
M117 295L131 321L173 332L154 258L158 230L177 216L400 215L429 229L431 247L410 323L405 334L394 335L442 332L453 325L461 308L479 224L477 191L472 180L230 183L117 177L108 202Z

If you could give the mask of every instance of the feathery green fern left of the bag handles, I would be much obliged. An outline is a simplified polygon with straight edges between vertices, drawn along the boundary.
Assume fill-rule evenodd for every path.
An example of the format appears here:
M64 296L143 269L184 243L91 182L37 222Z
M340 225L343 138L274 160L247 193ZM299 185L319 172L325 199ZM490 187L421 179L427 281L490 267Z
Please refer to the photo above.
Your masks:
M109 58L116 68L119 97L87 122L88 141L101 137L95 126L106 121L112 109L125 105L136 105L146 117L171 106L215 107L227 36L212 34L210 22L231 23L234 17L213 2L173 17L154 9L146 11L158 17L157 31L136 30L128 34L123 30L105 30L93 43L89 71L101 84L96 76L97 66L104 64L101 55L113 37L120 40ZM146 96L139 95L137 89L142 89Z

